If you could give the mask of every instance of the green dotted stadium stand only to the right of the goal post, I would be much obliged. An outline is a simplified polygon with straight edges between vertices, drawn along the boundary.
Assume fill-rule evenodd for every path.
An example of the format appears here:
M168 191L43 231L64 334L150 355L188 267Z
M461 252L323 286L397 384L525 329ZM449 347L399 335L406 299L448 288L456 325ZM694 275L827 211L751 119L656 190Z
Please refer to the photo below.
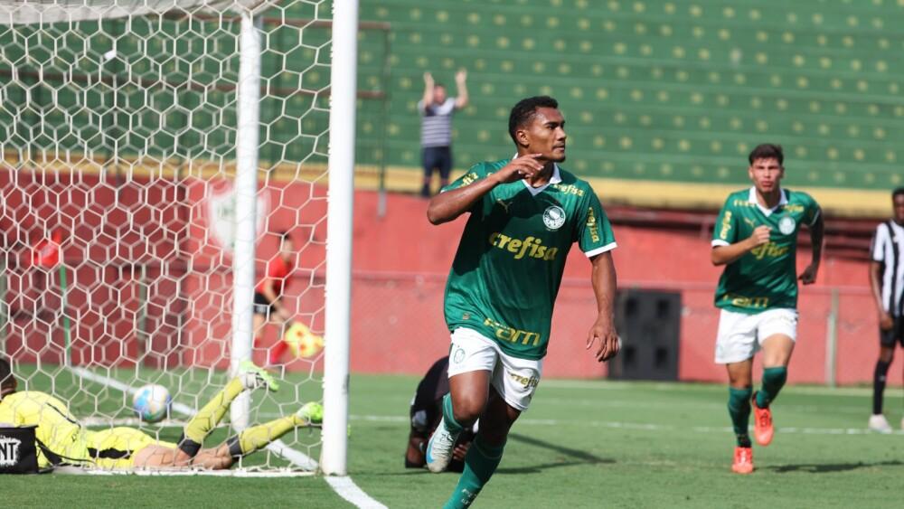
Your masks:
M457 167L508 155L508 109L551 94L579 174L739 183L750 148L776 141L789 184L904 184L900 2L363 0L362 19L392 27L390 165L419 164L423 72L454 93L466 67Z

